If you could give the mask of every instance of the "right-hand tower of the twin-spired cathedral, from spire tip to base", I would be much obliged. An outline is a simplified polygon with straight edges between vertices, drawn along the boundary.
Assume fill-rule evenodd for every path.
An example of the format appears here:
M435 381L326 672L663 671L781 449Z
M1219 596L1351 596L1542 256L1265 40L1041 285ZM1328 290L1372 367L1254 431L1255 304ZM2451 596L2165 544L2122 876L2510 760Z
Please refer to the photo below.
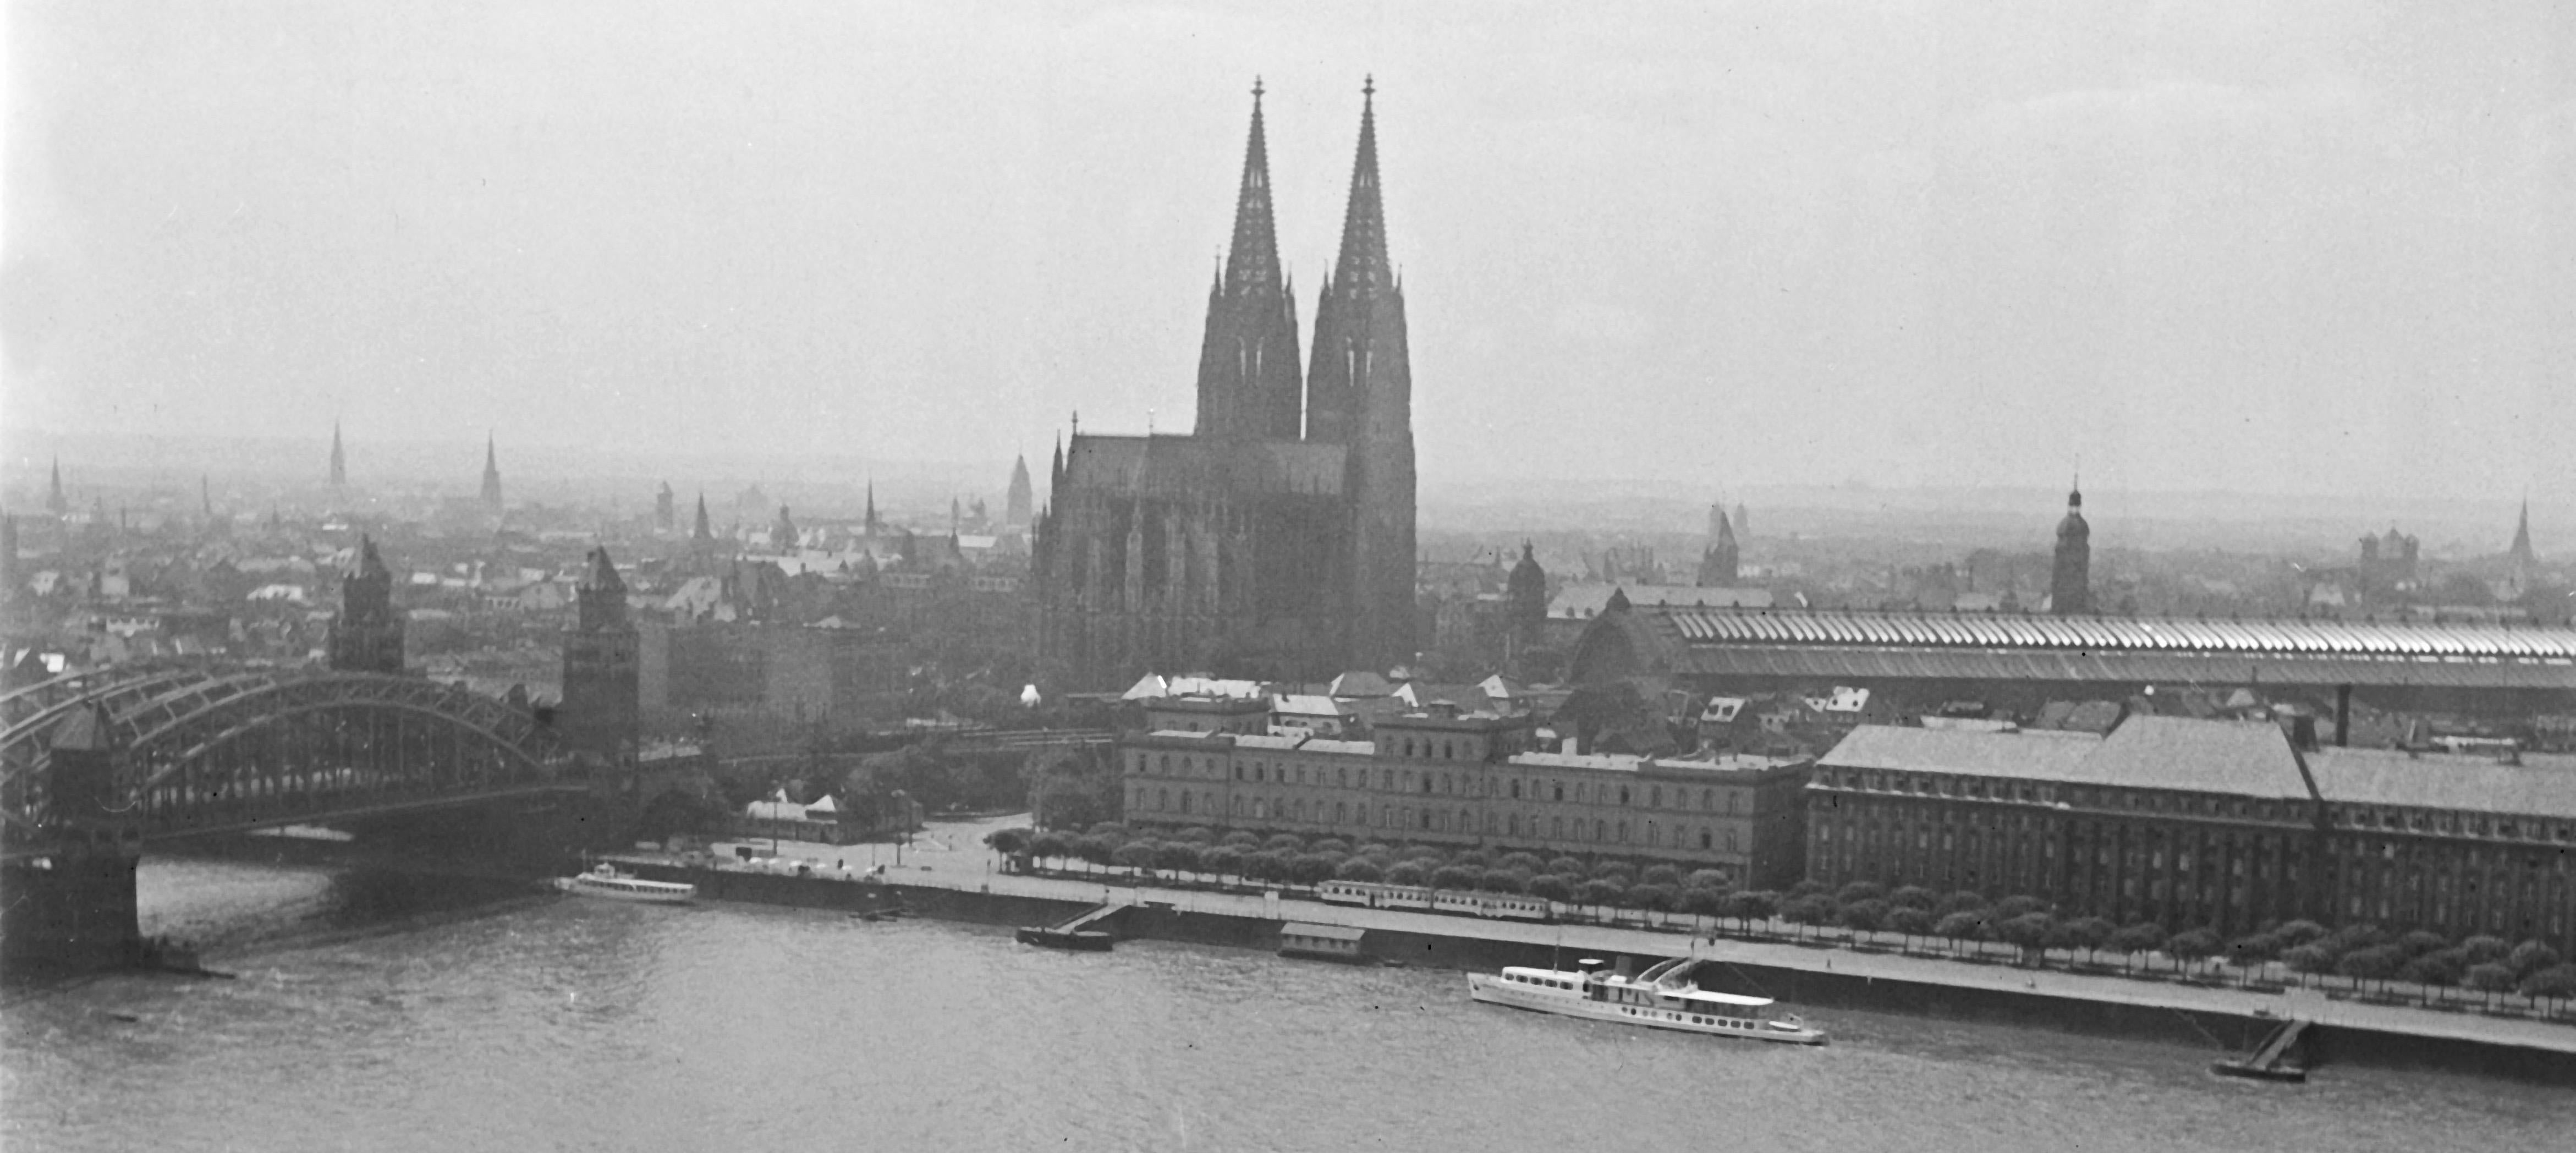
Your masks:
M1350 651L1358 669L1414 659L1414 373L1404 286L1386 255L1378 188L1378 85L1360 85L1360 154L1350 167L1342 255L1314 311L1306 440L1350 445Z

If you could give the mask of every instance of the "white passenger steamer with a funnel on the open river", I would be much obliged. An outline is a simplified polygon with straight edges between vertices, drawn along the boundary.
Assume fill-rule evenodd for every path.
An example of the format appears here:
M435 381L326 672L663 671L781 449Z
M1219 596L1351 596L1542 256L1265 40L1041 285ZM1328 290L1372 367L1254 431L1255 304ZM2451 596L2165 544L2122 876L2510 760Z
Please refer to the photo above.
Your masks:
M1600 965L1584 960L1582 965ZM1713 1032L1718 1037L1824 1045L1824 1029L1808 1029L1798 1014L1772 1017L1767 996L1708 993L1690 983L1695 957L1674 957L1633 978L1602 968L1504 968L1468 973L1466 991L1484 1004L1535 1009L1543 1014L1589 1017L1597 1022L1643 1024L1649 1029Z

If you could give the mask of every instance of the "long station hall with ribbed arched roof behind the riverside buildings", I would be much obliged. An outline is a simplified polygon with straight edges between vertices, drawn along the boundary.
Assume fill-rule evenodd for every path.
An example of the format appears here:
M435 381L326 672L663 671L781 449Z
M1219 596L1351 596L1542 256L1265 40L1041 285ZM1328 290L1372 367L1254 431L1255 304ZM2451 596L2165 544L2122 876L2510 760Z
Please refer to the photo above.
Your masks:
M1633 605L1584 628L1571 679L1625 679L1649 697L1850 685L1904 708L1981 700L2014 713L2151 687L2257 687L2334 715L2360 700L2532 718L2576 710L2576 628ZM2329 741L2336 731L2324 726Z

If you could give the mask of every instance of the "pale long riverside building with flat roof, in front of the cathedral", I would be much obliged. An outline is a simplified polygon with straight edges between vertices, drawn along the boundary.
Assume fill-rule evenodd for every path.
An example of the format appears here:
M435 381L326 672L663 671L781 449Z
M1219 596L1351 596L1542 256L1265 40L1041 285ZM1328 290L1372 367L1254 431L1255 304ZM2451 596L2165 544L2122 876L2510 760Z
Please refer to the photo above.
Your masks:
M1368 741L1267 736L1211 703L1118 744L1131 826L1267 829L1350 842L1476 844L1798 880L1808 762L1533 752L1530 718L1381 718Z

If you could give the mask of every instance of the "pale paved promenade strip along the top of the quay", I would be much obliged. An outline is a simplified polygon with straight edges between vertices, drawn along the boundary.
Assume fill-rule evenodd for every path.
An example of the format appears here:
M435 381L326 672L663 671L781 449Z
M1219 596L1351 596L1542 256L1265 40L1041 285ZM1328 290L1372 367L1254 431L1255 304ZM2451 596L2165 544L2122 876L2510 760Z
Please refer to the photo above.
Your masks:
M989 824L999 829L1012 821ZM1394 934L1448 937L1471 942L1507 942L1525 947L1561 950L1566 963L1577 957L1674 957L1692 955L1734 965L1759 965L1788 973L1819 973L1862 981L1904 981L1914 986L1942 986L1986 993L2022 993L2048 999L2074 999L2112 1006L2164 1009L2177 1014L2215 1017L2298 1017L2324 1027L2367 1029L2391 1037L2421 1037L2437 1042L2501 1045L2576 1058L2576 1027L2527 1019L2450 1014L2414 1006L2388 1006L2365 1001L2336 1001L2313 988L2287 988L2267 993L2228 986L2182 986L2164 981L2133 981L2120 975L2092 975L2066 970L2040 970L2017 965L1976 965L1901 952L1860 952L1847 947L1811 947L1790 942L1749 942L1731 937L1690 937L1685 932L1600 927L1600 924L1528 924L1489 921L1476 916L1422 914L1401 909L1355 909L1301 898L1270 898L1247 893L1208 893L1193 888L1139 885L1128 875L1033 878L999 872L997 857L981 844L987 824L933 826L927 836L904 849L902 867L891 865L891 847L876 847L886 865L884 880L904 888L945 888L963 893L992 893L1061 903L1157 903L1177 914L1211 914L1255 921L1306 921L1376 929ZM773 849L773 842L744 842ZM732 857L732 842L716 844ZM781 860L811 862L819 875L858 878L868 867L868 847L842 844L775 844ZM853 857L855 854L855 857ZM634 854L639 865L670 865L662 854ZM837 867L837 865L845 865ZM832 880L814 880L832 883ZM2218 1042L2218 1037L2210 1037Z

